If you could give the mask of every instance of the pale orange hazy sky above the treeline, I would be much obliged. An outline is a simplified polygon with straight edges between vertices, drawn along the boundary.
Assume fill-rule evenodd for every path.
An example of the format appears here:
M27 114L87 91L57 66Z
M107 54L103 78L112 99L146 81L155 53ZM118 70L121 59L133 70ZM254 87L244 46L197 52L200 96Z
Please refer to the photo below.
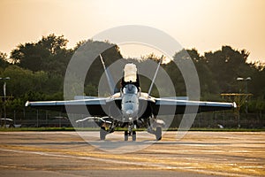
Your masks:
M249 61L265 62L264 10L264 0L1 0L0 51L10 54L19 43L49 34L64 35L71 48L111 27L143 25L201 54L231 45L249 51ZM145 55L135 49L121 52Z

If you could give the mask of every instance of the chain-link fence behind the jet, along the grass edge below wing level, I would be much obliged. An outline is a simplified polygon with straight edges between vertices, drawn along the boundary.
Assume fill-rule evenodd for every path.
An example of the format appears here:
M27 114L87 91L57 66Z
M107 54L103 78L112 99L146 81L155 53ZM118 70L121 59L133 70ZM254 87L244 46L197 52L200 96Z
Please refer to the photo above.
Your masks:
M3 117L3 116L2 116ZM76 115L76 119L84 119L86 115ZM93 120L70 121L66 113L50 112L34 109L13 110L7 112L7 119L1 119L1 126L5 124L13 124L16 127L96 127ZM176 115L172 122L168 121L166 116L157 118L163 119L164 122L170 127L179 127L183 115ZM265 127L265 114L261 113L240 113L234 112L203 112L198 113L193 122L193 127L212 127L212 128L264 128Z

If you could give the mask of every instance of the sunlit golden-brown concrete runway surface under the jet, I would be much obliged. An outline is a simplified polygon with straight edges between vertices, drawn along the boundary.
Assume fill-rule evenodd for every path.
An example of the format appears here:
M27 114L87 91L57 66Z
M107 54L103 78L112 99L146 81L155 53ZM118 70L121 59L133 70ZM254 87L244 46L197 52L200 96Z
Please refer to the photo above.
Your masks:
M265 132L188 132L178 141L166 132L160 142L146 132L137 142L98 135L0 132L0 176L265 176Z

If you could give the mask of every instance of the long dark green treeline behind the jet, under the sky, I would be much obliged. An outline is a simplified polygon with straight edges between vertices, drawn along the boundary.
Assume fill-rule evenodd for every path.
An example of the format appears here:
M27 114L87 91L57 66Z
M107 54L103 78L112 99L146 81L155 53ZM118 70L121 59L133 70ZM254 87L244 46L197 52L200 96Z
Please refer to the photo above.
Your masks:
M79 42L73 49L67 49L68 40L64 35L42 36L39 42L19 44L11 51L10 58L0 52L0 77L10 77L6 80L7 109L24 109L27 100L63 100L64 74L74 52L85 42ZM95 46L109 46L102 56L106 65L123 58L117 45L110 42L87 42ZM85 45L87 45L87 43ZM247 63L249 53L246 50L235 50L231 46L223 46L221 50L208 51L203 55L197 50L182 50L176 52L173 59L176 62L185 61L188 53L199 75L201 84L201 99L222 101L221 93L252 93L254 96L247 102L249 112L265 112L265 70L259 63ZM153 59L160 57L150 54L142 58ZM176 95L186 96L186 85L178 67L174 62L163 64L163 69L174 82ZM122 68L121 68L122 70ZM88 71L93 78L87 79L84 94L97 96L97 86L103 68L100 58L96 58ZM251 77L251 81L238 81L237 78ZM0 80L1 85L4 80ZM148 91L150 81L140 80L143 91ZM247 91L246 91L247 84ZM2 92L2 91L1 91ZM152 94L157 96L156 89ZM1 94L3 96L3 94ZM3 110L3 99L1 106ZM244 110L244 109L242 109Z

